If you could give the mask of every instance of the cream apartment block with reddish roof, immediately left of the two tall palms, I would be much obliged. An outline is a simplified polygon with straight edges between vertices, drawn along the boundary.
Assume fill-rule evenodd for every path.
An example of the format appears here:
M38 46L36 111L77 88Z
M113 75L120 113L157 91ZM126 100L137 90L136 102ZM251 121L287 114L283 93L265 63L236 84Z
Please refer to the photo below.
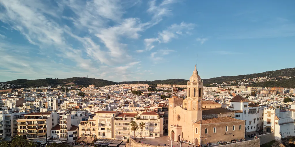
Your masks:
M137 113L119 113L115 117L115 139L128 140L130 137L130 122Z

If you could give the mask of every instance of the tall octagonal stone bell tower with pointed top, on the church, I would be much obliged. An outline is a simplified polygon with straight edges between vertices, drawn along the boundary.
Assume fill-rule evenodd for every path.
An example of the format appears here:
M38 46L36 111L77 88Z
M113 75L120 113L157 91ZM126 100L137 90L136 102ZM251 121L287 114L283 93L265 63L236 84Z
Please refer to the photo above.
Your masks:
M203 97L203 81L198 75L196 69L193 71L193 75L187 81L187 110L198 111L198 116L202 116L202 97ZM202 117L200 118L202 119ZM199 120L199 118L198 118Z

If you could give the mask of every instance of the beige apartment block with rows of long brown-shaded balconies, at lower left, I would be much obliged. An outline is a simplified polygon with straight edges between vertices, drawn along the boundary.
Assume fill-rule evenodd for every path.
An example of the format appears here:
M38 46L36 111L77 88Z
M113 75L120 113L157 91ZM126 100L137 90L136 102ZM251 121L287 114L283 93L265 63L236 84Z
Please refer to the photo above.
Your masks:
M17 134L28 140L46 139L51 134L53 125L56 124L53 123L53 114L50 112L24 114L24 118L17 120Z

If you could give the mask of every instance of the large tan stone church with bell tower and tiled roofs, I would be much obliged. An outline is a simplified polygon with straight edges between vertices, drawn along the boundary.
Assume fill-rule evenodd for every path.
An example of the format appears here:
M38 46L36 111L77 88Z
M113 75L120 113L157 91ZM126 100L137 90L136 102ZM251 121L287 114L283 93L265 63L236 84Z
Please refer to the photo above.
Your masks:
M225 108L203 108L203 81L195 69L187 81L187 98L169 98L168 136L195 145L245 137L245 121Z

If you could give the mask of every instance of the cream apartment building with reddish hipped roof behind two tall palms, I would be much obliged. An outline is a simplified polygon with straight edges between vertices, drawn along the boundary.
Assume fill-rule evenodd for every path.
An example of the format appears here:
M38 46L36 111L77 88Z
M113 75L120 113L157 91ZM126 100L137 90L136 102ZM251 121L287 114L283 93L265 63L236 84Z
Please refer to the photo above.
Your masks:
M160 118L155 111L146 111L141 113L134 119L138 124L145 123L142 131L142 138L155 138L163 136L163 118ZM136 131L136 136L141 136L141 129ZM130 132L130 136L134 137L134 131Z

